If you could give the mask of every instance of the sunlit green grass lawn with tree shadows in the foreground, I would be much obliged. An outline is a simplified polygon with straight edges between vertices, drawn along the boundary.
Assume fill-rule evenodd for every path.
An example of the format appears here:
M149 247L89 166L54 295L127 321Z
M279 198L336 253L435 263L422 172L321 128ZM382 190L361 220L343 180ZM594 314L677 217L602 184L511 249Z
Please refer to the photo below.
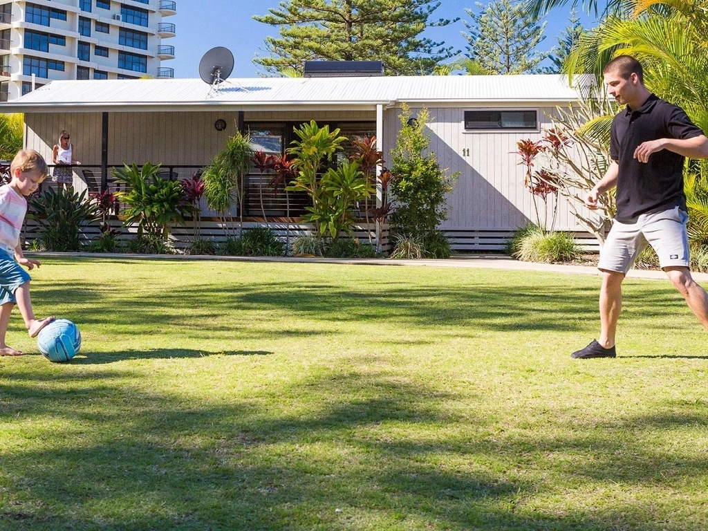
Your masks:
M706 530L708 333L627 280L52 258L0 358L0 530Z

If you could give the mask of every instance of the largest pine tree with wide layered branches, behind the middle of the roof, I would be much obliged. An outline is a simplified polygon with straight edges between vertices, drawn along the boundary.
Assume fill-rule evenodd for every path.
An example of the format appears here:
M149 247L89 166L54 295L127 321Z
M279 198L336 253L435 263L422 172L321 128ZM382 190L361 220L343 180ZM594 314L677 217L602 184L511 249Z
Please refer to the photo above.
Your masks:
M290 0L281 1L258 22L278 26L280 37L265 39L268 57L253 62L269 74L302 72L305 61L382 61L387 75L430 74L459 53L445 42L421 37L440 1L430 0Z

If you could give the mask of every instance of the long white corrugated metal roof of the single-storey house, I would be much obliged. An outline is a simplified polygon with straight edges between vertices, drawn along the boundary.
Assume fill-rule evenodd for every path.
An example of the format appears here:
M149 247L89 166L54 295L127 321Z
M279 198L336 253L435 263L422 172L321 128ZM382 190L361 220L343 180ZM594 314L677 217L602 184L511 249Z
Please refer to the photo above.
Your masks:
M0 112L98 110L266 110L374 108L377 104L561 104L578 93L559 75L380 76L227 79L212 90L201 79L52 81Z

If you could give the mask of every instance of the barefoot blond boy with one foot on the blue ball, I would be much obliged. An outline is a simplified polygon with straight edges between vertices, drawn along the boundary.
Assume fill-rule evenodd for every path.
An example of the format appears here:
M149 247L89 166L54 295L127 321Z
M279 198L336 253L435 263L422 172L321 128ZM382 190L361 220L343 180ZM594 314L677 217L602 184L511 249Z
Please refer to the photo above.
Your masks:
M33 269L40 263L25 258L20 231L27 212L27 200L47 176L47 163L33 149L22 149L10 165L10 183L0 186L0 356L19 356L20 350L8 347L5 334L15 304L34 338L54 317L36 319L30 301L30 275L20 267ZM13 256L15 257L13 259Z

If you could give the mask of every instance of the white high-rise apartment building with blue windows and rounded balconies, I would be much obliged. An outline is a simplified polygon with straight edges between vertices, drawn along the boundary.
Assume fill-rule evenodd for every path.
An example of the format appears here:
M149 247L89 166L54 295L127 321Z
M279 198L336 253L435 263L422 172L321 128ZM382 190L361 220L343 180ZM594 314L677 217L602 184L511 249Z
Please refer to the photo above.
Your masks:
M0 0L0 101L52 79L173 77L173 0Z

